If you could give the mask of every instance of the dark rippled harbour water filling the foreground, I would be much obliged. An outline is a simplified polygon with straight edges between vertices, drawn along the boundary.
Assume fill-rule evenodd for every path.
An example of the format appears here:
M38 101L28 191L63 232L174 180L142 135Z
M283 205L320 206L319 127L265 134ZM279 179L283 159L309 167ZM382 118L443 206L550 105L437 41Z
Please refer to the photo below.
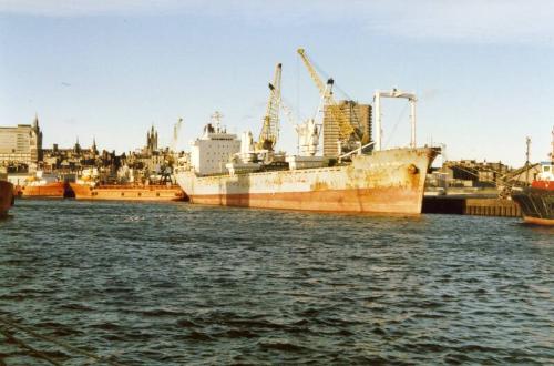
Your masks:
M554 230L519 218L72 200L18 201L10 215L0 317L107 360L554 359ZM44 364L7 334L90 362L0 327L0 364Z

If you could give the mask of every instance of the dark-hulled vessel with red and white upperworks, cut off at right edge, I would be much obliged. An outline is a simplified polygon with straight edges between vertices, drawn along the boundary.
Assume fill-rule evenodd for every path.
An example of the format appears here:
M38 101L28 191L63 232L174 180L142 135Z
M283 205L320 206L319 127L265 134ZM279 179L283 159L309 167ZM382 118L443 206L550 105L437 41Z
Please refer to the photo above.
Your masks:
M554 129L550 161L541 162L541 173L531 186L512 191L512 200L520 205L524 222L554 225Z

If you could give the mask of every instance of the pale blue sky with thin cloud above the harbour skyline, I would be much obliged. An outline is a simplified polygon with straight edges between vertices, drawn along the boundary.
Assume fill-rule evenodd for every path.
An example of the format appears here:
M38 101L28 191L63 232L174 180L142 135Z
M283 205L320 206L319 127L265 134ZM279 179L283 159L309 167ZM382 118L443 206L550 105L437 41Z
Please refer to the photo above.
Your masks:
M218 110L240 132L260 129L267 82L283 62L295 116L318 94L302 47L340 90L413 91L418 142L447 157L546 157L554 125L554 4L550 1L55 1L0 0L0 125L39 114L44 145L129 151L152 123L170 144L199 135ZM340 92L337 91L340 96ZM403 101L383 104L383 141L409 141ZM281 149L296 138L281 118Z

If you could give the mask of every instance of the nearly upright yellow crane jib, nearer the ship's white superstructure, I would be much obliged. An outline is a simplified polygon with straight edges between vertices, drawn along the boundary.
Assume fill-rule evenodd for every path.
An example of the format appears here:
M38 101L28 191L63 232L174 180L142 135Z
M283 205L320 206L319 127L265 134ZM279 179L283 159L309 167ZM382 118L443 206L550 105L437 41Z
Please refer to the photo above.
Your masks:
M279 138L280 75L281 64L277 63L274 82L269 83L269 100L257 143L260 150L273 151Z

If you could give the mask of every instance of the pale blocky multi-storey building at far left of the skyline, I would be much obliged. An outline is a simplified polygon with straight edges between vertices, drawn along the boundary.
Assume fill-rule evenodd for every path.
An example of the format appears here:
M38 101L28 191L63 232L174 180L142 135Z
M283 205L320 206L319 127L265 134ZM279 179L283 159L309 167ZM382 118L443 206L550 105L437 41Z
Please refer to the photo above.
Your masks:
M0 165L37 165L42 161L39 119L31 124L0 128Z

